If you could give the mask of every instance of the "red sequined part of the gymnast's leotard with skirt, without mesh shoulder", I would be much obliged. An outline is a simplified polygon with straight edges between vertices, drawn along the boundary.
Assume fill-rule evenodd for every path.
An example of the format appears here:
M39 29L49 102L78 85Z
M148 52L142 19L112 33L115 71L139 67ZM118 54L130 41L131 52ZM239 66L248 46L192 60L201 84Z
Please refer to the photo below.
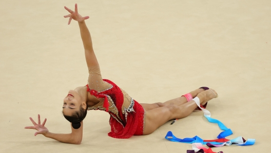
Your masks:
M112 85L107 90L96 91L89 89L90 94L94 95L96 98L103 98L103 105L89 107L88 109L99 109L108 111L110 114L110 126L111 132L108 136L113 138L127 139L133 135L143 135L144 129L144 108L135 100L131 99L129 107L123 107L124 96L123 90L119 88L116 84L110 80L103 79ZM126 93L126 92L125 92ZM127 105L126 105L127 106Z

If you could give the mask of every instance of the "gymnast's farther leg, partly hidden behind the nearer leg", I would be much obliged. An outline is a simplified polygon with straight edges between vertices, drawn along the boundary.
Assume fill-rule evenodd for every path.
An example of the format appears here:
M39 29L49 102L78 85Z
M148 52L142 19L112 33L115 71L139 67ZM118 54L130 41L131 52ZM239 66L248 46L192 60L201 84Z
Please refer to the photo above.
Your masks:
M192 97L195 98L200 92L204 91L204 89L200 88L200 89L196 89L194 91L191 91L189 93L191 93ZM186 103L187 100L185 97L179 97L176 99L172 99L169 101L166 101L164 103L152 103L152 104L146 104L146 103L140 103L140 105L146 110L151 110L154 108L159 108L159 107L164 107L164 106L168 106L168 105L182 105L184 103Z

